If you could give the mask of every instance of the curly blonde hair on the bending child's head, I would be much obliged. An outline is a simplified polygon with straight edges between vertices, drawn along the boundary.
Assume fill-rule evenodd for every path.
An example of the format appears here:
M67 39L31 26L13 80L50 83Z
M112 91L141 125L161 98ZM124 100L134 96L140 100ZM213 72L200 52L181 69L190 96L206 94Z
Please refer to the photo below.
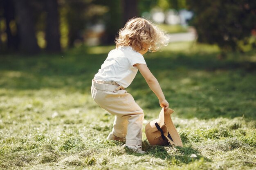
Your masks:
M132 18L119 30L115 43L117 48L131 46L135 51L144 50L142 45L145 43L149 45L148 51L155 52L168 43L168 38L150 21L144 18Z

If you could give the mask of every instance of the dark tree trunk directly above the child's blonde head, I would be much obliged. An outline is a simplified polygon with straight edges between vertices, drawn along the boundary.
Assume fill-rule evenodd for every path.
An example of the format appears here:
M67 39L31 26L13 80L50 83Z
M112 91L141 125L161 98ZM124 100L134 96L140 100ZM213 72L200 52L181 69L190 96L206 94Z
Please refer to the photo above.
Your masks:
M138 0L123 0L123 24L138 15Z

